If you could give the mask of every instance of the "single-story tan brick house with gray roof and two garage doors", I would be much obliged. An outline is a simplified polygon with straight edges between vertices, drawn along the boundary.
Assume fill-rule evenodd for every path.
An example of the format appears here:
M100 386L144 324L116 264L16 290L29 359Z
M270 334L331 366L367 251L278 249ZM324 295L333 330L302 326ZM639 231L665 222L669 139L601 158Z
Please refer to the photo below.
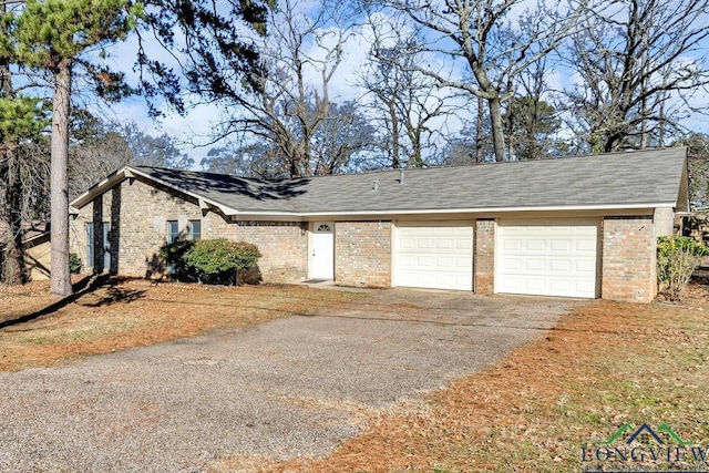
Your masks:
M71 203L86 267L164 271L175 238L256 244L266 281L648 302L687 210L687 151L289 181L126 166Z

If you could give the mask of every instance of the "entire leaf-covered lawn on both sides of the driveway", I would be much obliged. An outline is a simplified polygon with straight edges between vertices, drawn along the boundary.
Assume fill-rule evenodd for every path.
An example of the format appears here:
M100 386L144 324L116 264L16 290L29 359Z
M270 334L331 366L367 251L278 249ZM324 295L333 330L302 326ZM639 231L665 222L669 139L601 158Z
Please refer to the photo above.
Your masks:
M69 300L41 284L2 288L0 370L247 328L357 297L143 280L99 280ZM709 471L692 459L709 449L708 301L700 285L682 305L589 301L421 402L366 412L369 426L327 457L222 459L213 471ZM631 439L644 424L661 443L647 430Z

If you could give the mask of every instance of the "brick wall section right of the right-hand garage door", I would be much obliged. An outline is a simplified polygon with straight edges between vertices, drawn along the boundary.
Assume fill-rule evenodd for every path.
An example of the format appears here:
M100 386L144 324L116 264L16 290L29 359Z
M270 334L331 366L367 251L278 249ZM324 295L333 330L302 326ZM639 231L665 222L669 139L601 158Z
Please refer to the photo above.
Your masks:
M602 297L650 302L657 294L653 217L606 217L603 222Z

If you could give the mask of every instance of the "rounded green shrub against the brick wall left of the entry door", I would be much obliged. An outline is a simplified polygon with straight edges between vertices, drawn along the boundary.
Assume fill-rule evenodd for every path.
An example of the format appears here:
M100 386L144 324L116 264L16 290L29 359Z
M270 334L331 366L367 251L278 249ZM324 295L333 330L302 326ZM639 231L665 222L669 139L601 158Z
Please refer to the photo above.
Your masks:
M178 279L207 284L235 284L237 273L256 267L261 256L256 245L226 238L177 240L161 255Z

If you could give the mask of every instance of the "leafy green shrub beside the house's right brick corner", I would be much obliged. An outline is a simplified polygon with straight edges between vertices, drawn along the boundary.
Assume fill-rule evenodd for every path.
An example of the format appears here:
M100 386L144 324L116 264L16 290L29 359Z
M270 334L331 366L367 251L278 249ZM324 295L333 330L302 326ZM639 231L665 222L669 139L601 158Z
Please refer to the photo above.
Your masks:
M709 247L689 237L658 237L657 280L659 291L669 300L681 300L692 273L709 255Z

